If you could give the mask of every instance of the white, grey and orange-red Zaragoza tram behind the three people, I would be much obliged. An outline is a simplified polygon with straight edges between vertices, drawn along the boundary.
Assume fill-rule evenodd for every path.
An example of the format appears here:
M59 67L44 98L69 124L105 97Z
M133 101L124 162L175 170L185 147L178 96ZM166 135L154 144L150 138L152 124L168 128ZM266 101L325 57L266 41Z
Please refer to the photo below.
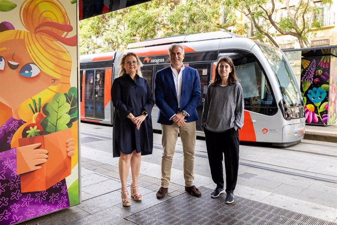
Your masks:
M215 75L216 61L221 56L232 58L244 91L244 126L240 141L269 142L288 146L304 137L303 99L295 74L283 52L225 31L180 35L129 44L121 52L80 56L81 120L112 124L113 106L110 90L119 71L119 61L126 52L135 52L143 62L145 77L154 93L156 72L169 66L168 48L172 43L184 46L184 64L198 70L202 98L197 112L201 118L207 87ZM188 84L187 84L188 85ZM152 109L153 129L158 108ZM198 136L204 136L196 121Z

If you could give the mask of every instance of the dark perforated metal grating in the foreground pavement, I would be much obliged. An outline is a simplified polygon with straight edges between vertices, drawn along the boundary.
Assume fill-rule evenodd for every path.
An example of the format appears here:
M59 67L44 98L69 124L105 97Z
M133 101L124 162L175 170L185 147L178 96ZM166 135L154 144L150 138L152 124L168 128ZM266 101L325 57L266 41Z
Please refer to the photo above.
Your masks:
M226 194L211 199L213 190L200 191L200 198L184 193L125 219L138 225L337 225L238 196L226 204Z

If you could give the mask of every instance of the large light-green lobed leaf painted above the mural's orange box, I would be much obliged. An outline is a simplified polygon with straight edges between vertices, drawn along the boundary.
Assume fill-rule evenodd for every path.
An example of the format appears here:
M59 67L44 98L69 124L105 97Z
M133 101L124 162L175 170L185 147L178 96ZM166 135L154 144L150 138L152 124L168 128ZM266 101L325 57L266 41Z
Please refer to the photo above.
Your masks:
M57 93L52 102L46 103L42 111L46 115L41 121L43 135L55 133L68 128L67 123L70 121L70 104L66 102L63 93Z

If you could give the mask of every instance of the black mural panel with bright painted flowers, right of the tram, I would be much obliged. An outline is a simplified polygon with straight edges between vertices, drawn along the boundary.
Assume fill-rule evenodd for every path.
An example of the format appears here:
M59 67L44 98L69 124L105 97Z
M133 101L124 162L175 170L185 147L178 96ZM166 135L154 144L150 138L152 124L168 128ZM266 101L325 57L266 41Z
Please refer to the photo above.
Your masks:
M336 50L302 51L301 93L307 124L336 122Z

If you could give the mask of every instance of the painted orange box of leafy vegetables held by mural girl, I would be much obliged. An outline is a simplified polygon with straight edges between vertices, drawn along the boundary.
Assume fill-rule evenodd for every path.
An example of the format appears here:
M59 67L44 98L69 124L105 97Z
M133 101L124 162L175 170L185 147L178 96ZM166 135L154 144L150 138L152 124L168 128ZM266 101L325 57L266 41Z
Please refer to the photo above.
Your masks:
M34 127L28 131L32 135L19 139L19 144L27 147L41 143L41 148L48 153L48 160L45 159L40 169L34 167L36 170L21 175L21 192L46 190L71 174L71 157L75 155L75 146L70 127L77 120L77 114L73 112L77 113L77 107L77 89L71 88L68 93L56 93L51 102L44 104L42 112L45 117L39 110L33 110L34 115L40 118L33 120L37 127L33 124ZM41 114L36 113L38 111L42 119ZM38 129L39 125L41 129ZM38 130L42 130L42 135ZM38 146L40 144L34 147ZM23 158L27 159L25 156Z

